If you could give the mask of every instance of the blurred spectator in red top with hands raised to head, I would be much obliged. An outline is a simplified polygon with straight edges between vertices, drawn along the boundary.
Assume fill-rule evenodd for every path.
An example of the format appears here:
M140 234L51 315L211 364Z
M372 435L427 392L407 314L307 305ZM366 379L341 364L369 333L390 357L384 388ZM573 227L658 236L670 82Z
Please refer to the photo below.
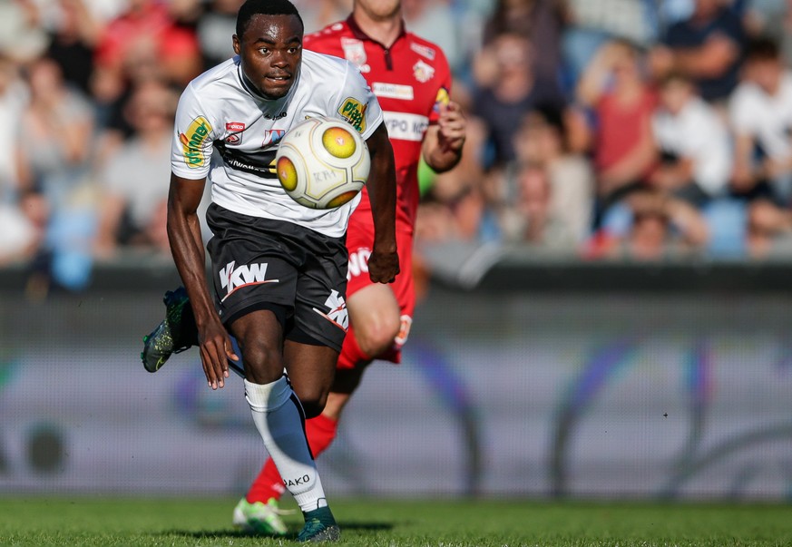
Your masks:
M603 45L583 73L578 100L596 118L596 224L611 203L646 181L656 160L651 133L656 97L640 73L635 47L623 41Z

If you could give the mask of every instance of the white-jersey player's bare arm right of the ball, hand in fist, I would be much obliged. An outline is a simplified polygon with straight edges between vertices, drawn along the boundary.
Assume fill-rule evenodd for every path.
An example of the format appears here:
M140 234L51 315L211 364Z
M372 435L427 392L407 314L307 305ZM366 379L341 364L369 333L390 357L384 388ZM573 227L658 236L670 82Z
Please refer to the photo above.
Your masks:
M399 258L396 254L396 163L385 123L379 124L366 143L371 154L367 189L375 231L374 248L368 258L368 275L375 283L392 283L399 273Z

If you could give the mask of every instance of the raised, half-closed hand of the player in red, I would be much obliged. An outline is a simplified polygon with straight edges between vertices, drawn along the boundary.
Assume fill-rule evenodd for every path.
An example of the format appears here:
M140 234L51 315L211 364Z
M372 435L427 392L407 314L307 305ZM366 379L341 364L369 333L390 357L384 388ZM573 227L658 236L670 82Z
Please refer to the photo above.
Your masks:
M440 119L426 130L421 152L433 171L442 173L455 168L462 159L467 131L462 108L453 101L440 107Z

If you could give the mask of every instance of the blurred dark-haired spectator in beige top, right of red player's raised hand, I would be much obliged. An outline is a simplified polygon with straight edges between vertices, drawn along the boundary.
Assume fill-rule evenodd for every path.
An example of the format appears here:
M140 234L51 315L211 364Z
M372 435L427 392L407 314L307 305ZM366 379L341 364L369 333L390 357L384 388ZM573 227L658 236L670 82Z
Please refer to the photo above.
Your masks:
M562 112L540 107L524 118L515 139L517 161L542 169L550 183L549 213L577 244L591 236L594 174L566 144ZM570 247L567 245L567 247Z

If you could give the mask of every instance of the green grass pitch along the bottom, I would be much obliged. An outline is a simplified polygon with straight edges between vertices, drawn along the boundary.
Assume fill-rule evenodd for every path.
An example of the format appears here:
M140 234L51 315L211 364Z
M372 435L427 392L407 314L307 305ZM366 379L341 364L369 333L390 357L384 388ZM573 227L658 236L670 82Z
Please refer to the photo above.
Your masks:
M230 526L233 499L0 498L0 545L293 545ZM337 500L342 545L729 547L792 545L769 504ZM286 518L298 532L301 518Z

